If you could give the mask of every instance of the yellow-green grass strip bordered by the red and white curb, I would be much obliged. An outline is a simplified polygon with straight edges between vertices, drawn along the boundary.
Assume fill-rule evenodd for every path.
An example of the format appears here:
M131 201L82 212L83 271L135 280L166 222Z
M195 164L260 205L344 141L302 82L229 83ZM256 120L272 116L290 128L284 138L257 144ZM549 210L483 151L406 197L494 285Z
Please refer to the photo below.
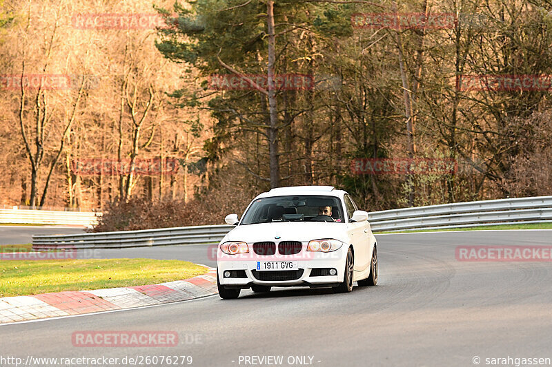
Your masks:
M0 297L158 284L207 270L179 260L8 260L0 262Z

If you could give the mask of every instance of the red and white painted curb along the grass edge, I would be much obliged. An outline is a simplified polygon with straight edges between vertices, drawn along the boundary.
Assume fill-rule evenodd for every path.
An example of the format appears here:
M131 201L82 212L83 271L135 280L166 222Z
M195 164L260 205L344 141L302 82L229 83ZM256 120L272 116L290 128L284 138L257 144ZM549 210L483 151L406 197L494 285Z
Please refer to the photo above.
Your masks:
M186 280L0 298L0 324L193 300L217 293L217 270Z

